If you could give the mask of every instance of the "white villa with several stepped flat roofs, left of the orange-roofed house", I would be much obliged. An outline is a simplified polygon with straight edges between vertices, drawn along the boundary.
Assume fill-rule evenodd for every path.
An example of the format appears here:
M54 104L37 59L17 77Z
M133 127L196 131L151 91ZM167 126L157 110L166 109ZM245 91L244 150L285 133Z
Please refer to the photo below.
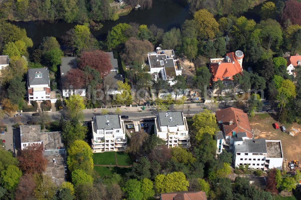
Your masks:
M162 78L166 80L169 85L174 85L172 81L176 76L182 75L182 68L175 59L175 52L171 50L161 50L157 47L157 52L149 52L147 54L148 64L154 80Z

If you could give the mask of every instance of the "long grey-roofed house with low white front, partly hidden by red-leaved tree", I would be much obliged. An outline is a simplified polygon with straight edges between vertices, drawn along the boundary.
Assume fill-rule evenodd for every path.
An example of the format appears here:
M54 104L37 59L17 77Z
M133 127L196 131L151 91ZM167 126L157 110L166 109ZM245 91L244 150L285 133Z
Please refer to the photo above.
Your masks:
M76 57L64 57L61 58L62 64L60 66L60 74L61 74L61 88L62 88L62 96L69 97L70 95L78 94L80 96L86 96L86 89L72 89L71 86L66 87L66 75L71 69L77 68L77 60Z

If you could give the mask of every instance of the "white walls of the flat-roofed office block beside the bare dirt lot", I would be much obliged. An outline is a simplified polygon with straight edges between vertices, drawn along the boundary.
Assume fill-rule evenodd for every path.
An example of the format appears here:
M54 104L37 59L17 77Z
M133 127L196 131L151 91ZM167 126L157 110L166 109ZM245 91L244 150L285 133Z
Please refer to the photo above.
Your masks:
M237 150L238 147L243 148L250 148L250 145L252 145L253 139L247 139L242 141L235 141L234 142L234 149L233 149L233 162L234 166L238 167L240 165L247 165L249 164L249 168L252 169L260 169L260 170L268 170L272 168L277 168L281 170L282 164L283 164L283 155L282 155L282 147L281 147L281 141L280 140L265 140L264 145L266 145L266 149L264 148L258 148L255 151L248 152L248 151L240 151ZM246 144L246 141L248 141L248 145ZM268 143L279 143L279 148L277 151L280 152L279 155L275 155L274 151L276 148L269 148L267 147ZM240 145L240 146L239 146ZM254 150L254 149L253 149Z

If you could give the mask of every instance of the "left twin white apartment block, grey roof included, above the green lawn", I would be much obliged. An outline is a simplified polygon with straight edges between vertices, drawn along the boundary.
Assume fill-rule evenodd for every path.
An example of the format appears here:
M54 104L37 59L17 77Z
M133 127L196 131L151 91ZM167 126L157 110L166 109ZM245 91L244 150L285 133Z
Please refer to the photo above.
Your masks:
M123 120L117 114L97 115L93 117L93 152L124 151L127 145L124 130Z

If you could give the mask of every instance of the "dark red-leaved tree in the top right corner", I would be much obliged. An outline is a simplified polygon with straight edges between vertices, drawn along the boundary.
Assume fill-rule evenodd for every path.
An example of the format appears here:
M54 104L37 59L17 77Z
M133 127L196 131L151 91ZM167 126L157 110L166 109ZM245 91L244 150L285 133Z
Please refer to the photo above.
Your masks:
M292 24L301 25L301 3L295 0L288 0L285 2L283 10L284 20L289 19Z

